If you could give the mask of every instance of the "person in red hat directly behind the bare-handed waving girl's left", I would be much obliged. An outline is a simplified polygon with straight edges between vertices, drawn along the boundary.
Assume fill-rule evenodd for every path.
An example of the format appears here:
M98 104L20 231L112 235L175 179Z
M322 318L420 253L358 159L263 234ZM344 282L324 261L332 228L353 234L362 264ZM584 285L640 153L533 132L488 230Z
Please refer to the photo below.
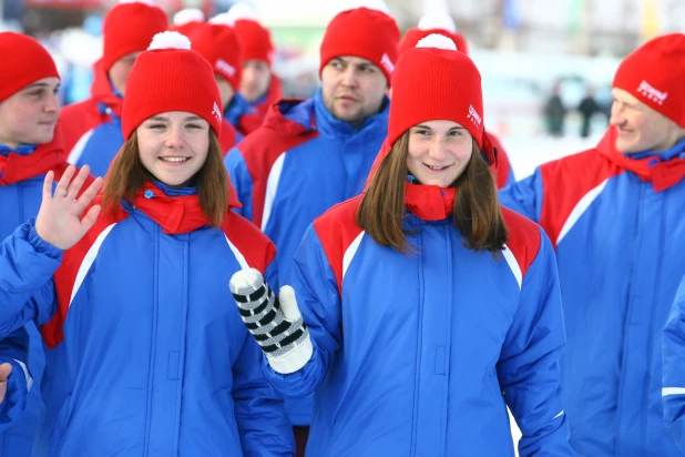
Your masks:
M166 13L143 0L121 0L106 13L102 29L103 55L93 67L92 97L65 106L60 115L70 163L89 164L99 176L108 172L124 143L121 111L131 67L152 37L167 27Z

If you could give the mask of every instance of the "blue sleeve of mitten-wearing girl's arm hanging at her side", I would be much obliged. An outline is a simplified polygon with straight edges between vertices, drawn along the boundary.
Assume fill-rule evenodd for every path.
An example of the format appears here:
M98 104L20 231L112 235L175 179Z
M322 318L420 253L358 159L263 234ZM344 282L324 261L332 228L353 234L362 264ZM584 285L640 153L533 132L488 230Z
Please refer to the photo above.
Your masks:
M497 365L500 386L522 433L519 455L573 456L561 396L559 358L566 343L556 260L541 246L521 283L519 304Z

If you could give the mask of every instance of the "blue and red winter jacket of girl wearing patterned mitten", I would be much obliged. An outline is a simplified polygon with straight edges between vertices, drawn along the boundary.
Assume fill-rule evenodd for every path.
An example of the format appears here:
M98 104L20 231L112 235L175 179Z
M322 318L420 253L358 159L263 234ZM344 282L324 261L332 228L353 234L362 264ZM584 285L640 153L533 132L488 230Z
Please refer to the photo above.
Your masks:
M361 197L317 219L297 251L288 284L314 355L292 375L264 367L284 395L315 394L307 456L513 456L507 406L523 433L520 456L573 455L549 240L504 210L507 248L474 252L453 203L448 212L430 203L439 187L417 187L427 192L405 228L420 254L362 232Z

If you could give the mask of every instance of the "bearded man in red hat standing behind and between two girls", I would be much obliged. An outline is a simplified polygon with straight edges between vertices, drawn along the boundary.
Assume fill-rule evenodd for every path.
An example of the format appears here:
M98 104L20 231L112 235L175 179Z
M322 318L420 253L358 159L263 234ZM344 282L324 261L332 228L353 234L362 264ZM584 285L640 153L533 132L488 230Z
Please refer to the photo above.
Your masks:
M307 226L365 186L387 134L386 92L399 38L386 12L357 8L336 16L320 47L321 89L313 99L273 105L226 156L239 212L278 250L280 283ZM310 399L286 405L294 425L309 425Z

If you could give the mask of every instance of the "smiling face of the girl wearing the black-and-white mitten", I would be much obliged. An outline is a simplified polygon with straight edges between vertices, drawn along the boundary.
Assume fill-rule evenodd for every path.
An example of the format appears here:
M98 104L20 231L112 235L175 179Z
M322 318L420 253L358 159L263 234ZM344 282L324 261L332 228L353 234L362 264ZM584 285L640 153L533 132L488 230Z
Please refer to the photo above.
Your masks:
M409 129L407 169L421 184L449 187L463 173L473 138L453 121L427 121Z

